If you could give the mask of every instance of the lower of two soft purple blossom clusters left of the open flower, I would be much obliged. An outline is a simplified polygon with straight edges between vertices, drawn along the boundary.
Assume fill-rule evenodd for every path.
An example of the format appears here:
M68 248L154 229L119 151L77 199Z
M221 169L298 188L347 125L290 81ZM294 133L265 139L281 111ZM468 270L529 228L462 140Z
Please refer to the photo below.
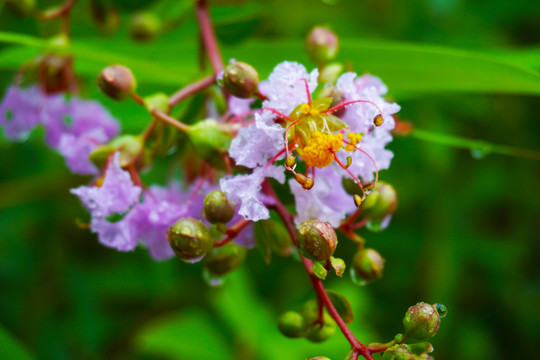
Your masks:
M187 190L172 182L167 187L151 186L143 191L120 167L119 153L115 153L100 186L81 186L71 192L90 212L90 228L100 243L132 251L140 242L154 259L164 260L174 256L166 238L169 227L182 217L206 222L201 215L204 196L215 189L215 185L200 178ZM231 222L239 218L236 215ZM235 242L253 247L253 231L245 230Z

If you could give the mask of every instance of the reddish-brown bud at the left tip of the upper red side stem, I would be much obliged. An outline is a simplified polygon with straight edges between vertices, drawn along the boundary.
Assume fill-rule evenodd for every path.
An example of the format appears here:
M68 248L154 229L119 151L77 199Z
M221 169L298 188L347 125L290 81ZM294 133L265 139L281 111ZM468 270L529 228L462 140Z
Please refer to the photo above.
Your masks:
M98 86L110 98L123 100L135 91L137 81L129 68L122 65L109 65L101 70Z

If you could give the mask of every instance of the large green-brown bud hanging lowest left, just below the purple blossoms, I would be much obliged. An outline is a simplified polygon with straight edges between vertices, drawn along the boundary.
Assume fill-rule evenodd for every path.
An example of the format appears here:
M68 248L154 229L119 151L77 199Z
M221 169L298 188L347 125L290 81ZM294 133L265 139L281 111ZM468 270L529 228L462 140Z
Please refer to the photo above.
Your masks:
M199 261L214 246L208 228L193 218L175 222L167 232L167 240L176 256L188 262Z

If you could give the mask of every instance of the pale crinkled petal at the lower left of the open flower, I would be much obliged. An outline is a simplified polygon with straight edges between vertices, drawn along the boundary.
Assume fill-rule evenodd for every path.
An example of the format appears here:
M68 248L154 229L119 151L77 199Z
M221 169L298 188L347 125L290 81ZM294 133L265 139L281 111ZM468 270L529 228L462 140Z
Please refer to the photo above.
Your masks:
M240 205L238 209L240 215L247 220L259 221L270 217L270 212L260 198L261 184L266 177L272 177L283 183L284 169L273 165L258 167L249 175L223 178L219 184L229 200Z

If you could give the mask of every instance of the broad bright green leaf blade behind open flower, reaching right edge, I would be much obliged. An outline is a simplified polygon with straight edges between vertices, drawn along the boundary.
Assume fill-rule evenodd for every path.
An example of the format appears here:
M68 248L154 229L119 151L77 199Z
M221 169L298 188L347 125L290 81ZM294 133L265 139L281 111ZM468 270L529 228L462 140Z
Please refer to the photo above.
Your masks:
M540 74L497 55L449 47L340 39L339 60L351 61L359 74L380 77L392 94L434 92L540 95ZM244 43L224 53L269 73L283 59L307 62L301 41ZM264 54L261 58L260 54ZM308 66L309 67L309 66Z

